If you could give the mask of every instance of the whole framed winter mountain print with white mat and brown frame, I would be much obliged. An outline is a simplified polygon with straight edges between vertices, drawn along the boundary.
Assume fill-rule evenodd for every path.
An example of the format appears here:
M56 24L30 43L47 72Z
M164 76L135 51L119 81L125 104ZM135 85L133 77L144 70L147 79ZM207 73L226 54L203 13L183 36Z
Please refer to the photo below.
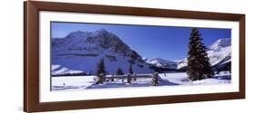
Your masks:
M24 110L245 98L245 15L24 4Z

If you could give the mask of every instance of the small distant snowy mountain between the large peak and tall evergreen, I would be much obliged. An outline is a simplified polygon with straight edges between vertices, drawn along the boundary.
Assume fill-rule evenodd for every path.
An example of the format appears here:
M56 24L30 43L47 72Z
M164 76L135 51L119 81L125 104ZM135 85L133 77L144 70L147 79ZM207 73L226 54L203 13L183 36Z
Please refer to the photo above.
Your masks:
M177 69L177 62L175 61L168 61L168 60L156 58L156 59L148 60L147 63L159 68Z

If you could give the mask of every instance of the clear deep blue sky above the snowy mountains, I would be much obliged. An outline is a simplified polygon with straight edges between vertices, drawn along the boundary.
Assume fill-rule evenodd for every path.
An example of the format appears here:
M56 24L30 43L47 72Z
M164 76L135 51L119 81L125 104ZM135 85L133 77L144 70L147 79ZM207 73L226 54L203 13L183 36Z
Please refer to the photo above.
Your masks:
M188 54L190 33L188 27L51 23L53 38L63 38L75 31L95 32L98 29L106 29L110 33L117 34L132 50L148 59L162 58L174 61L183 59ZM200 28L199 30L206 46L220 38L230 38L230 29Z

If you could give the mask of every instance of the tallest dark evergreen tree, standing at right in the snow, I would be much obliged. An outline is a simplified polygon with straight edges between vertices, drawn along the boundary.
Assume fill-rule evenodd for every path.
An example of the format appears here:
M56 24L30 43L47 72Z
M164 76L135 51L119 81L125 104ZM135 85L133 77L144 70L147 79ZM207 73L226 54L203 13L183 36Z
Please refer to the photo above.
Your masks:
M202 80L212 78L213 71L210 67L206 46L200 37L200 32L192 28L189 38L188 75L189 80Z

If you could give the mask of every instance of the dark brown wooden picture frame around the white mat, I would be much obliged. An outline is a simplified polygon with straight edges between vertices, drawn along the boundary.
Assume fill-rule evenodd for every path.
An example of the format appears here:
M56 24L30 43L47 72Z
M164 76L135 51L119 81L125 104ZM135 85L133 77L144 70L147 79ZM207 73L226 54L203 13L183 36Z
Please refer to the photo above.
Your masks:
M174 17L239 22L239 92L159 96L126 99L94 99L59 102L39 101L39 12L74 12L89 14L118 14L151 17ZM108 108L192 101L245 99L245 15L195 11L165 10L109 5L82 5L27 1L24 3L24 111L50 111L79 108Z

